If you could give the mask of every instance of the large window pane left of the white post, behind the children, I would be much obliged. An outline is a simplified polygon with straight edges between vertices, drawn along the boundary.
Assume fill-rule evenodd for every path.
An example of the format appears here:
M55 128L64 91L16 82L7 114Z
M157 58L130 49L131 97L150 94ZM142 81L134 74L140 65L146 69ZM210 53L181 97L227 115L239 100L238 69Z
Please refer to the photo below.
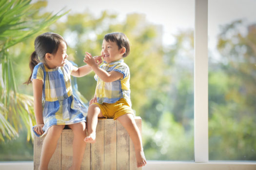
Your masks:
M35 2L38 0L32 0ZM105 34L127 35L131 51L124 61L131 72L132 108L142 118L147 160L194 160L194 0L48 0L45 6L40 3L45 1L35 5L40 7L39 15L56 14L63 7L71 9L43 32L63 36L68 44L68 59L78 66L84 65L85 51L100 55ZM36 36L9 50L19 63L14 71L23 94L33 95L32 86L22 83L30 73L28 57L34 51ZM95 92L94 74L77 78L77 83L79 92L89 101ZM27 142L26 128L19 133L16 140L6 139L0 144L0 150L5 151L0 153L0 161L7 161L4 154L9 149L9 161L33 160L33 143ZM17 147L12 147L14 143L22 144L20 153L26 157L19 157Z

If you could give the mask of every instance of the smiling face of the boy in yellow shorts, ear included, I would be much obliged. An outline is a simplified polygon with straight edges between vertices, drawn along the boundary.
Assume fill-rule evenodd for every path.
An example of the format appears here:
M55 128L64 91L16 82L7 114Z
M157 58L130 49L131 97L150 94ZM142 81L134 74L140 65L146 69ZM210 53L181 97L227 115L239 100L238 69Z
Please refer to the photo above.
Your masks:
M101 55L107 63L123 58L122 55L124 53L125 48L118 49L118 44L116 42L107 42L105 39L103 40Z

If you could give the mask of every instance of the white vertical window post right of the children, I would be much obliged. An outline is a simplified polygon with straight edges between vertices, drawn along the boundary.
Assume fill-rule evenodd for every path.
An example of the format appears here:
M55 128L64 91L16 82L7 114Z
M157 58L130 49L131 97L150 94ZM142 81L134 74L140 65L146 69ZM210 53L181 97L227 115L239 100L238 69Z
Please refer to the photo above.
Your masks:
M209 161L208 146L208 0L195 0L194 152Z

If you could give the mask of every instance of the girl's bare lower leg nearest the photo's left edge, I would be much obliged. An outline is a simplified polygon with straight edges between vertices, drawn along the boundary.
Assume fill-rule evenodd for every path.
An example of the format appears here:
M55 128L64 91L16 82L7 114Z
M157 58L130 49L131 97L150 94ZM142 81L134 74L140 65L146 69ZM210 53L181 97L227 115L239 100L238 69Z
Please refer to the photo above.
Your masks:
M59 136L63 128L64 125L53 125L48 129L42 144L39 170L48 170L48 164L56 150Z

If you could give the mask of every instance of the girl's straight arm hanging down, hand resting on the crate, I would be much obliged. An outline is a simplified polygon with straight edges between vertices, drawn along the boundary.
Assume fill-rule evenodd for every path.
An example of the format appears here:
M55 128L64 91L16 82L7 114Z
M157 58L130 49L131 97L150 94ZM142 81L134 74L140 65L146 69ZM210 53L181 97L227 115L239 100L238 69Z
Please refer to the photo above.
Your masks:
M37 122L37 127L34 128L39 135L43 133L42 127L44 126L42 117L42 86L43 82L39 79L33 79L33 94L34 94L34 112Z

